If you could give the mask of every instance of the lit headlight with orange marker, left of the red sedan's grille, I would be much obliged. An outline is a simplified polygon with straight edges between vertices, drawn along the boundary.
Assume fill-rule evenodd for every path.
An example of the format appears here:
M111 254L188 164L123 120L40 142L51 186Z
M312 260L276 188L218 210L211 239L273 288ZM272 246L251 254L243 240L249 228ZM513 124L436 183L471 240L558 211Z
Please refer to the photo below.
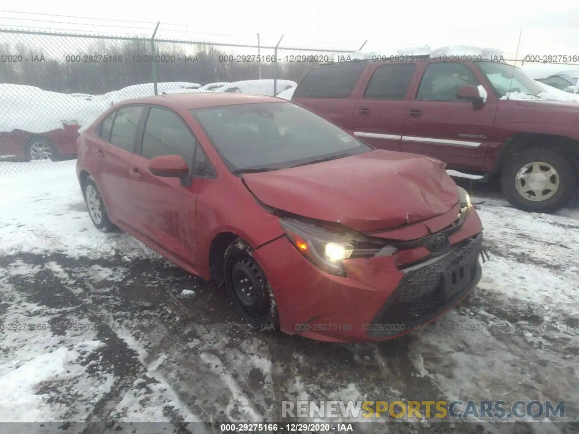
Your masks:
M355 234L330 231L301 220L281 218L281 227L300 253L318 268L336 275L345 275L345 259L357 252L358 255L392 255L394 247L381 246L377 249L355 250L352 242L359 240Z

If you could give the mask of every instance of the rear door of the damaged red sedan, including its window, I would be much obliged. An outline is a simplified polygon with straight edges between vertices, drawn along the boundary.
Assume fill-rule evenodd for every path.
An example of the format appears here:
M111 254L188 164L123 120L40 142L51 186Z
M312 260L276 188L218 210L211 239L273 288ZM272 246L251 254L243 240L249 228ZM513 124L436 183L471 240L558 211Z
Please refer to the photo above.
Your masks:
M91 170L108 212L130 223L129 160L136 149L137 125L142 105L119 108L102 120L97 135L90 137L91 152L96 154Z

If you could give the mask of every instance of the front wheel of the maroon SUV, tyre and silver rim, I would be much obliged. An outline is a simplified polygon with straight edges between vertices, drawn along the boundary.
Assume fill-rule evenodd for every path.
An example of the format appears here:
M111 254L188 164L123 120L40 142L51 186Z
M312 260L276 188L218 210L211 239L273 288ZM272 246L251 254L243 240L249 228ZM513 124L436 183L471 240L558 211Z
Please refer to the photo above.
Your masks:
M577 169L571 157L551 148L517 153L503 169L501 186L515 208L528 212L555 212L577 190Z

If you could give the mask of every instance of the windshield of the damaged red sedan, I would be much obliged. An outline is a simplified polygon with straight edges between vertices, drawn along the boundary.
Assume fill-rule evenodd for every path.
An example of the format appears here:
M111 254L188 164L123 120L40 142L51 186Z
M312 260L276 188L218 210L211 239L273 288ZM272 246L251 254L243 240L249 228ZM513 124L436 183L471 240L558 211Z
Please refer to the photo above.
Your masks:
M372 149L323 117L289 102L190 112L233 172L287 168Z

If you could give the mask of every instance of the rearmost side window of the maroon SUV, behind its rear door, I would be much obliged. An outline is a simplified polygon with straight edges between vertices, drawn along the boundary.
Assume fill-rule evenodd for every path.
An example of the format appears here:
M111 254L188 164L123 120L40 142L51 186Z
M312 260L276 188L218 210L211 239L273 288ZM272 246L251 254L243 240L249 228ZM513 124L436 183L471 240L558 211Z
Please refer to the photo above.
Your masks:
M365 62L310 70L295 90L295 98L347 98L366 67Z

